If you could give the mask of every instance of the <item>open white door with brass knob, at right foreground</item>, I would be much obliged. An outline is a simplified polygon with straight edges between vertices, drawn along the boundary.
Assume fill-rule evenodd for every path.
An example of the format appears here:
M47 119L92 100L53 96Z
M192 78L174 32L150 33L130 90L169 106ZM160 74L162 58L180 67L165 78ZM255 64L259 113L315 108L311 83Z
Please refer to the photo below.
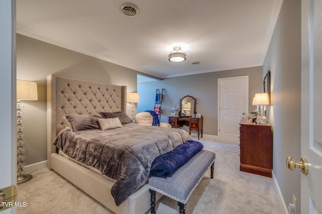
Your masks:
M322 1L302 0L301 213L322 213ZM298 160L297 160L298 161ZM299 172L293 172L299 173Z

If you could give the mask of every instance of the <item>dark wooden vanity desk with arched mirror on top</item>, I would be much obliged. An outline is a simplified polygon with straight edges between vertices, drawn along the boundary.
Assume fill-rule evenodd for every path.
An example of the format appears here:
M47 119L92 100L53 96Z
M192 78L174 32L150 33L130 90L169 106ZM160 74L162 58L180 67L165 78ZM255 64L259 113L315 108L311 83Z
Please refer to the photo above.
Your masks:
M184 125L189 126L189 134L191 134L191 131L197 131L199 140L200 133L202 137L203 117L193 117L197 112L196 103L196 98L191 96L185 96L180 99L180 116L169 117L169 124L171 124L172 128L179 128Z

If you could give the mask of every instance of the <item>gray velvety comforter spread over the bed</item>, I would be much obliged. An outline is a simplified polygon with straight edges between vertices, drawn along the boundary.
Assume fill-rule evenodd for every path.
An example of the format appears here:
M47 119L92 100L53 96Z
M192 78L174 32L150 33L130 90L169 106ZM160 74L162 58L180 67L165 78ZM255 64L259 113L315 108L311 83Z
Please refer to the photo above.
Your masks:
M77 133L66 127L53 145L115 180L111 195L115 204L120 205L147 180L155 157L190 139L189 133L181 129L129 123L123 128Z

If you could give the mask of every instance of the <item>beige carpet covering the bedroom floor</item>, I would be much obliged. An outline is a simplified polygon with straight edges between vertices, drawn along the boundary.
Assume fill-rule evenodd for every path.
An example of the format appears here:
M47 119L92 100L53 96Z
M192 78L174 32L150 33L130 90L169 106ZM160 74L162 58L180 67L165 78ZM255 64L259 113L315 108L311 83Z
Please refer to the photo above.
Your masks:
M285 213L271 178L239 171L237 144L200 142L216 153L215 176L210 179L207 172L200 181L188 200L187 214ZM41 168L31 174L32 180L18 185L17 201L26 202L18 213L113 213L54 171ZM156 212L179 213L178 204L164 196Z

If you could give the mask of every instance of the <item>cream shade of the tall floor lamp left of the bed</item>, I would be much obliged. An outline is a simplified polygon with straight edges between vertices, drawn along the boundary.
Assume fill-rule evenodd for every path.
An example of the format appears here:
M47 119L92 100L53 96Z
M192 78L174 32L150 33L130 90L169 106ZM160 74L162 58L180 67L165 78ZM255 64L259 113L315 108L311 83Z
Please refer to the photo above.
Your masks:
M37 83L17 80L18 100L38 100Z

